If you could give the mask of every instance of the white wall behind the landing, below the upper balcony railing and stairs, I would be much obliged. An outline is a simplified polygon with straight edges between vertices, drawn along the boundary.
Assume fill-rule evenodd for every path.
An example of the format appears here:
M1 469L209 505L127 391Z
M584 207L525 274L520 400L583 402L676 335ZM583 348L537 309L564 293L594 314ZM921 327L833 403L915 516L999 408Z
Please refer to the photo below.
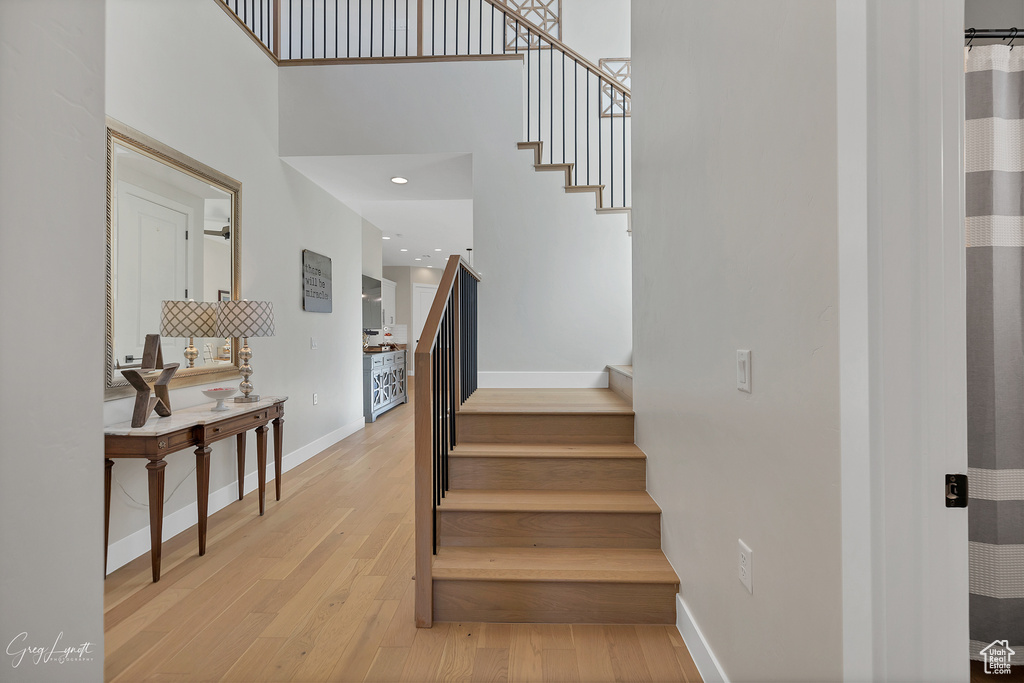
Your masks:
M516 150L522 88L518 61L286 68L281 151L471 153L481 373L591 381L630 361L626 220L596 215L592 195L566 195Z

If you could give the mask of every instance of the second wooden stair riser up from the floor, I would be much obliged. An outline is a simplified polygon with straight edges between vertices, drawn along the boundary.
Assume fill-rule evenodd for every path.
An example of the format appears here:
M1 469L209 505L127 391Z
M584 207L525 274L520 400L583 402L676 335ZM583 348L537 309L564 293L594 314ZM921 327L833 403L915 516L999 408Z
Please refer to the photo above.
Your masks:
M439 514L440 546L660 548L660 513L485 512Z

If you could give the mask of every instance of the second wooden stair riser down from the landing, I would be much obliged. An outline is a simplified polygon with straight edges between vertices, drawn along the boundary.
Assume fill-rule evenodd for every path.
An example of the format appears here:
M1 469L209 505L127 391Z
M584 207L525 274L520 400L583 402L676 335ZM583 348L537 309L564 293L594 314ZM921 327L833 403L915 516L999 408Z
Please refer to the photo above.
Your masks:
M451 458L452 488L646 490L637 458Z

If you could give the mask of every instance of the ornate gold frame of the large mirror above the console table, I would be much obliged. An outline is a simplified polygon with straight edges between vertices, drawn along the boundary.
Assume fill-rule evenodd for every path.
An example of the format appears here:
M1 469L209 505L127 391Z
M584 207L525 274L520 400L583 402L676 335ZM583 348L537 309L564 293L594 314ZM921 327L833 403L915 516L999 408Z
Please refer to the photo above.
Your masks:
M103 400L113 400L134 396L135 389L127 380L115 379L114 366L114 292L112 289L112 258L111 245L113 237L113 183L114 178L114 144L121 144L155 161L170 166L186 175L210 183L231 196L231 299L241 298L242 290L242 183L224 175L206 164L187 157L177 150L155 140L144 133L125 124L106 118L106 362L104 375ZM216 368L179 369L171 380L170 388L210 384L213 382L241 381L239 379L239 340L231 340L231 365ZM157 375L154 374L153 381Z

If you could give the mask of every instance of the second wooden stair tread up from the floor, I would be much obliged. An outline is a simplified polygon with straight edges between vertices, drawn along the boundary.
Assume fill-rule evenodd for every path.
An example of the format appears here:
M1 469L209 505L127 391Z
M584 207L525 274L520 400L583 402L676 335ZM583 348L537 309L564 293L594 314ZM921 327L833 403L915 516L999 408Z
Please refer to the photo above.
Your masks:
M616 512L657 514L645 490L449 490L443 512Z

